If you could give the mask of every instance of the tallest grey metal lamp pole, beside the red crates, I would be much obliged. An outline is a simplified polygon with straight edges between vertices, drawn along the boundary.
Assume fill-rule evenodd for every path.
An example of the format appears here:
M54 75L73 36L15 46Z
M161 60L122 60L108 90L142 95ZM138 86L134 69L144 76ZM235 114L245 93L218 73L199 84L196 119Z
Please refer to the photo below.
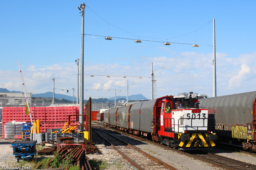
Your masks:
M84 3L81 4L80 8L82 9L82 30L81 30L81 74L80 74L80 105L79 105L79 125L84 125ZM80 132L84 131L84 127L79 127Z

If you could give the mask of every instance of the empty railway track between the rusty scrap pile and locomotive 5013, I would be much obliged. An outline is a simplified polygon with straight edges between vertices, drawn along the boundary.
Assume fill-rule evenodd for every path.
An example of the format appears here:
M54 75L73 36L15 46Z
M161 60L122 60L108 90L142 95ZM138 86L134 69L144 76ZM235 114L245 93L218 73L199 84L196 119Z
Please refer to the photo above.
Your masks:
M138 147L128 144L113 134L108 133L106 130L96 128L93 128L93 130L102 136L105 141L109 142L114 149L139 170L177 170L175 167L145 153Z

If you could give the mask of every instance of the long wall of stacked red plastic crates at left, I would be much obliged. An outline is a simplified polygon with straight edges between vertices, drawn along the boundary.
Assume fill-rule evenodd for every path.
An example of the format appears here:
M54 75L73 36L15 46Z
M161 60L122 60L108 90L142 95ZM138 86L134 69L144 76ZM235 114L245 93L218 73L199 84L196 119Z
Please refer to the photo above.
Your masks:
M79 107L76 106L56 106L56 107L31 107L32 120L39 119L41 132L47 129L62 128L68 121L69 115L79 114ZM85 112L85 108L84 108ZM3 108L3 137L5 122L31 122L30 116L26 115L26 107ZM85 120L85 118L84 118ZM79 116L70 116L70 124L78 125ZM86 122L85 122L86 123ZM77 128L76 128L77 130Z

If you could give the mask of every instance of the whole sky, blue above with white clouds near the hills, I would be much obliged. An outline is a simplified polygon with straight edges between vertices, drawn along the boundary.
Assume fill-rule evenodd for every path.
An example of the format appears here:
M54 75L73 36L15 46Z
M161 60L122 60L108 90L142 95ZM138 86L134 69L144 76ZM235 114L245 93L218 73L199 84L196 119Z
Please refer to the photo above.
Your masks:
M77 6L83 2L87 6L84 34L91 34L84 36L85 99L113 97L114 89L125 96L127 80L128 85L140 81L129 86L129 95L151 99L151 79L147 77L152 62L154 70L166 67L154 71L157 97L189 91L212 96L213 18L217 96L256 90L253 0L2 1L1 88L22 91L19 61L27 92L53 91L55 78L55 93L67 94L60 89L75 88L76 94L75 59L81 56ZM119 38L105 40L102 36ZM135 43L135 39L144 41ZM163 45L166 41L175 43ZM195 43L198 48L190 45ZM88 76L91 74L104 76ZM140 76L143 79L137 78Z

